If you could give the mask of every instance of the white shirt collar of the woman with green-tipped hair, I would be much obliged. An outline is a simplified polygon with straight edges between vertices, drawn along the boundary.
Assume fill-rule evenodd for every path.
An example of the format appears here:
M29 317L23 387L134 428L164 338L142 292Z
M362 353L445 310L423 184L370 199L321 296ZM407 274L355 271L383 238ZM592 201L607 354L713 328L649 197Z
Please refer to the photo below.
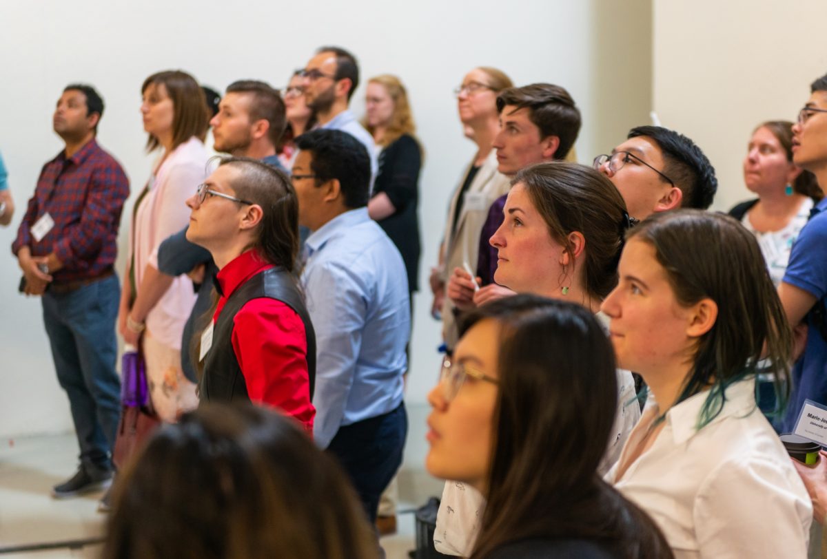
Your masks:
M666 420L669 426L672 427L672 438L674 438L676 444L685 443L698 432L698 416L709 394L710 391L700 392L683 400L678 405L673 405L667 411ZM726 389L725 396L724 408L715 416L715 419L710 421L710 424L731 416L745 417L756 409L755 378L751 377L729 386Z

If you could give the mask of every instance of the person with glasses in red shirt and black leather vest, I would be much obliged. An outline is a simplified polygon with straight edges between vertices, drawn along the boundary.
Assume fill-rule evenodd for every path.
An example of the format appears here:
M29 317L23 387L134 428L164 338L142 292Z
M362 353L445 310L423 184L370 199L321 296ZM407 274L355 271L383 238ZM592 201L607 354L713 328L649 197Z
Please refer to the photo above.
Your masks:
M316 342L295 278L299 206L289 178L257 159L224 159L187 206L187 239L218 267L218 301L193 352L199 398L274 407L313 433Z

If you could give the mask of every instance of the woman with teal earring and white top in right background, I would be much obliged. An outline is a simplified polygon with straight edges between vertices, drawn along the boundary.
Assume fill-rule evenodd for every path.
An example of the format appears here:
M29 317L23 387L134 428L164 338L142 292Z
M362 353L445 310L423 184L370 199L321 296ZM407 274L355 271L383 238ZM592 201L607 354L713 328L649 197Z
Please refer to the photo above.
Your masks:
M758 239L772 282L778 286L790 261L792 244L822 197L815 175L792 162L792 123L764 122L753 130L743 159L743 182L758 194L729 215Z

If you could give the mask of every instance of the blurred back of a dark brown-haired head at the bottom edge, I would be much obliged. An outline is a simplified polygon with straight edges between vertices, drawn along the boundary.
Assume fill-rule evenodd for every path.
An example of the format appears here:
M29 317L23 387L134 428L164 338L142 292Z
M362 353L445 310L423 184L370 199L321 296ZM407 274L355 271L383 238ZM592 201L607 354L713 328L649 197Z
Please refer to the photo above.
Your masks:
M374 559L337 463L296 425L210 404L160 429L114 488L106 559Z

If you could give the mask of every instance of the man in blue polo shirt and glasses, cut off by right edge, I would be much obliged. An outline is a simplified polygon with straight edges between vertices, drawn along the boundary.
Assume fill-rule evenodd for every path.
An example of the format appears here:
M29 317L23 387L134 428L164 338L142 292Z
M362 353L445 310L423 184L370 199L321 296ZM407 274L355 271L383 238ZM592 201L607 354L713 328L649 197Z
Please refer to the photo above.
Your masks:
M810 85L810 100L792 126L792 161L815 174L822 192L827 185L827 75ZM790 263L778 286L787 320L794 327L792 391L782 433L796 429L804 400L827 404L827 198L810 212L810 220L792 245Z

